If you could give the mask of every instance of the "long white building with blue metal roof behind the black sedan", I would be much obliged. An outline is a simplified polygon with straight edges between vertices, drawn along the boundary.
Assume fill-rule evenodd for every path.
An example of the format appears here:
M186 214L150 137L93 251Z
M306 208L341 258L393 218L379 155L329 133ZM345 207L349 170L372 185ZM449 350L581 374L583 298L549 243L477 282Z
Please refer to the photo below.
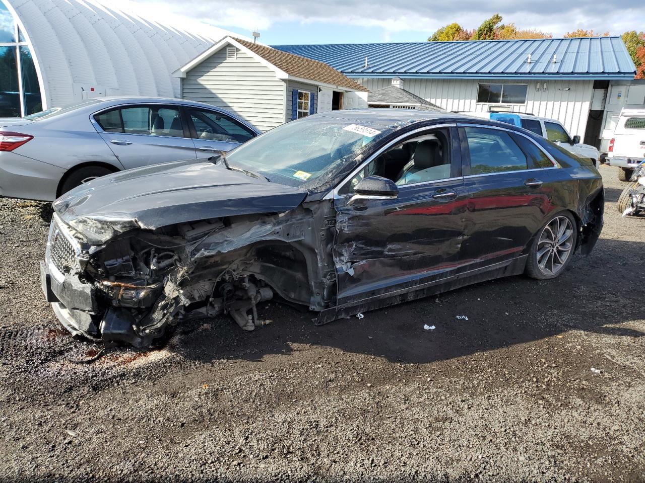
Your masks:
M326 62L370 91L400 77L406 90L448 111L555 118L588 144L599 144L614 82L636 73L620 37L275 48Z

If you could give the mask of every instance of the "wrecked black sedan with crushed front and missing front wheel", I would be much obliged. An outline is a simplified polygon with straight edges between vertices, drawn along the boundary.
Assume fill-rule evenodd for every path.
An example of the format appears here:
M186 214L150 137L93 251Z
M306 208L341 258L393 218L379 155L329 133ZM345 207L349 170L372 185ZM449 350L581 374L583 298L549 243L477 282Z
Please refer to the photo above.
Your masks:
M602 229L593 164L521 128L332 111L208 160L99 178L54 203L41 278L72 334L150 345L190 317L315 323L502 276L559 276Z

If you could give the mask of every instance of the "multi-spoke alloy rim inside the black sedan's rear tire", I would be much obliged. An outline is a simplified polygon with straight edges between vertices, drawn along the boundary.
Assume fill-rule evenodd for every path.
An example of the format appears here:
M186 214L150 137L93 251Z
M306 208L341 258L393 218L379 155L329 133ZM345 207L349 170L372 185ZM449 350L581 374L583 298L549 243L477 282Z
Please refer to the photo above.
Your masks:
M573 225L566 216L556 216L542 229L537 242L537 266L544 275L557 275L573 251Z

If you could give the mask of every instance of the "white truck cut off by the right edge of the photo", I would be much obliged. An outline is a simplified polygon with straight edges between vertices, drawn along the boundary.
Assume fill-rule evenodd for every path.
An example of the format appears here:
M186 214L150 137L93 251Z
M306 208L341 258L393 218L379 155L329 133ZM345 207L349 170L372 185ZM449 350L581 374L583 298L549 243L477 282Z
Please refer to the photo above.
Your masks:
M607 164L619 167L618 179L629 181L645 161L645 109L622 109L609 142Z

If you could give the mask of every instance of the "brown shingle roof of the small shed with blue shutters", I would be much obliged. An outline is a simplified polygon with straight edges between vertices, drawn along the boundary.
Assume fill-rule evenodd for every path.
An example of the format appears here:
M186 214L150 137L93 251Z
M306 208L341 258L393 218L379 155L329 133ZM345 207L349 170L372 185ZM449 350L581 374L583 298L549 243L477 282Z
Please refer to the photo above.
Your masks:
M288 73L288 75L301 77L302 79L310 79L311 81L324 82L325 84L334 84L335 86L342 86L355 91L368 91L368 89L361 86L358 82L352 81L349 77L345 77L339 71L323 62L312 61L299 55L282 52L281 50L275 50L235 37L231 38L241 43L248 50L257 53L257 55L266 61L271 62L280 70Z

